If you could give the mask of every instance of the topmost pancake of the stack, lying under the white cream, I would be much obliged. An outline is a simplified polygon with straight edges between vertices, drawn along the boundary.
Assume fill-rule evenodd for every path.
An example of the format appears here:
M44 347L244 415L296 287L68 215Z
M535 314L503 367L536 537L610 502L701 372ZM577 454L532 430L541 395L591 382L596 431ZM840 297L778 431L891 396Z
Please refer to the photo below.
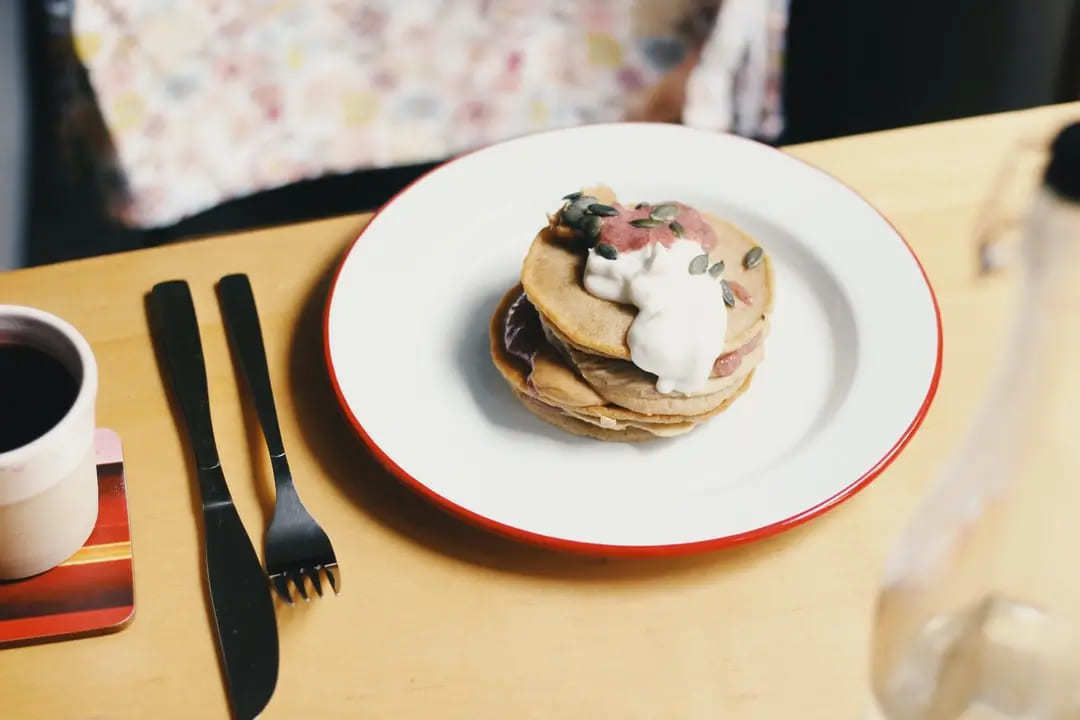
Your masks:
M744 287L751 298L748 304L737 301L728 312L725 352L729 352L757 335L772 312L772 264L766 255L753 270L743 268L742 258L756 245L754 240L730 222L702 215L718 240L710 253L710 262L724 260L724 277ZM522 267L522 285L537 310L570 345L593 355L629 361L626 332L637 311L590 295L582 284L584 267L584 254L549 226L529 247Z

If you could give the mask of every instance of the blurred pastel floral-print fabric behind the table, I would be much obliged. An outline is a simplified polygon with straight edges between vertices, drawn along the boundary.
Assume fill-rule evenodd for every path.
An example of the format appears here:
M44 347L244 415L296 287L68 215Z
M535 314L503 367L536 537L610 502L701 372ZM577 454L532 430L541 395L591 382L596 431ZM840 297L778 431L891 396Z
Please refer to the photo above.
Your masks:
M81 0L73 36L125 176L110 212L150 227L551 127L774 136L785 17L786 0Z

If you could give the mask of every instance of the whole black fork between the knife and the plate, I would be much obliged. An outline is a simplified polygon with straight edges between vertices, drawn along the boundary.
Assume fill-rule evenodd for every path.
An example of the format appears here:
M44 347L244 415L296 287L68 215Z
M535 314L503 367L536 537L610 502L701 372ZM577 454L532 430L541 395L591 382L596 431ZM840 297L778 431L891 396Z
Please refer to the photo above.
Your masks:
M234 274L222 277L217 288L225 311L225 324L232 340L232 351L240 358L241 371L252 393L259 424L262 425L278 489L264 553L267 573L278 595L289 604L293 604L289 581L305 600L309 599L305 578L311 580L315 592L322 596L320 572L325 573L330 587L337 593L341 571L330 540L300 502L285 459L285 446L281 441L281 429L278 426L278 410L274 407L270 370L267 368L266 348L262 344L262 330L259 328L252 284L247 275Z

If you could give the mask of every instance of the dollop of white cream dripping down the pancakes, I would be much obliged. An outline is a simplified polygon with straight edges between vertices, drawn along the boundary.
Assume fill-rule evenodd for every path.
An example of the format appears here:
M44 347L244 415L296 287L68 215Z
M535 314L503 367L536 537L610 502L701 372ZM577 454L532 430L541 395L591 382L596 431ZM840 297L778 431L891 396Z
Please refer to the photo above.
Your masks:
M658 392L700 392L724 352L728 312L723 286L708 272L690 271L711 244L669 234L651 242L619 242L623 249L613 258L597 252L598 246L589 250L585 290L637 308L626 344L634 365L657 376Z

